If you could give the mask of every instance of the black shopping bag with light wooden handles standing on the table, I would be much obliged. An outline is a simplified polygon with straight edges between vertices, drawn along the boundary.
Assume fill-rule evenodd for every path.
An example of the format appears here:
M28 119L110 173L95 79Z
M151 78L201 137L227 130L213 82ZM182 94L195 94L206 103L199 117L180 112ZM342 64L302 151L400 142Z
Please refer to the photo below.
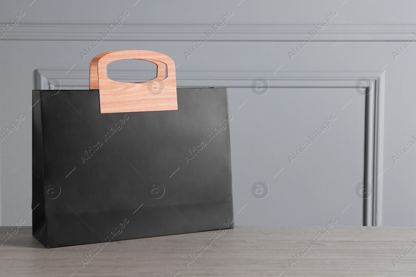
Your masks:
M112 81L119 59L158 74ZM45 247L233 228L226 88L176 89L168 56L124 50L92 60L89 90L32 100L33 236Z

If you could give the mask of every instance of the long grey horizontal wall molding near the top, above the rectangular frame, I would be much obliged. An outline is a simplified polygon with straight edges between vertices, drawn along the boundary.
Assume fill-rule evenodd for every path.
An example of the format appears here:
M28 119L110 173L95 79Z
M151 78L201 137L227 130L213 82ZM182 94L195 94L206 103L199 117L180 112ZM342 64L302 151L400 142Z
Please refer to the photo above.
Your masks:
M7 23L1 23L5 25ZM199 41L211 24L127 24L104 38L109 24L19 23L0 40L95 41ZM316 24L230 24L218 29L210 41L303 41ZM312 41L405 41L416 32L413 24L331 24ZM309 35L310 36L310 35ZM311 36L310 36L311 37Z

